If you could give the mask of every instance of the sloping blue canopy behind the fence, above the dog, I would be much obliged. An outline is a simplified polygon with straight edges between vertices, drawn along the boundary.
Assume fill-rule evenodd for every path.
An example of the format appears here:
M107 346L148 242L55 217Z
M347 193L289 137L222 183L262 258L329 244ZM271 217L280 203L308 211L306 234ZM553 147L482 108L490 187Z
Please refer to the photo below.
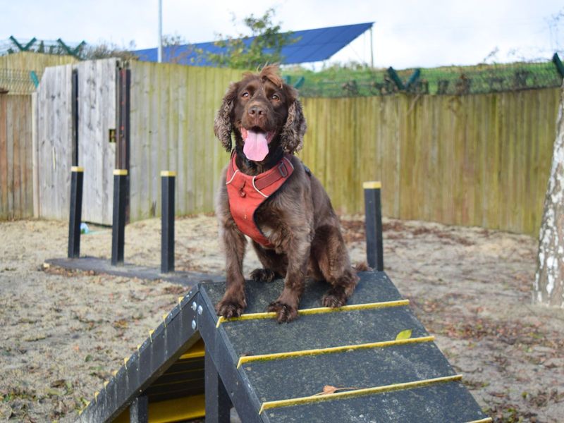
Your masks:
M295 42L282 48L281 63L288 65L329 59L353 39L369 30L373 24L373 22L358 23L291 32L290 39L294 39ZM250 44L253 38L245 39L245 44ZM214 42L167 46L163 48L163 61L195 66L214 66L207 60L206 52L217 54L224 51L226 51L225 47L218 47ZM135 50L133 53L137 54L142 61L157 61L156 48Z

